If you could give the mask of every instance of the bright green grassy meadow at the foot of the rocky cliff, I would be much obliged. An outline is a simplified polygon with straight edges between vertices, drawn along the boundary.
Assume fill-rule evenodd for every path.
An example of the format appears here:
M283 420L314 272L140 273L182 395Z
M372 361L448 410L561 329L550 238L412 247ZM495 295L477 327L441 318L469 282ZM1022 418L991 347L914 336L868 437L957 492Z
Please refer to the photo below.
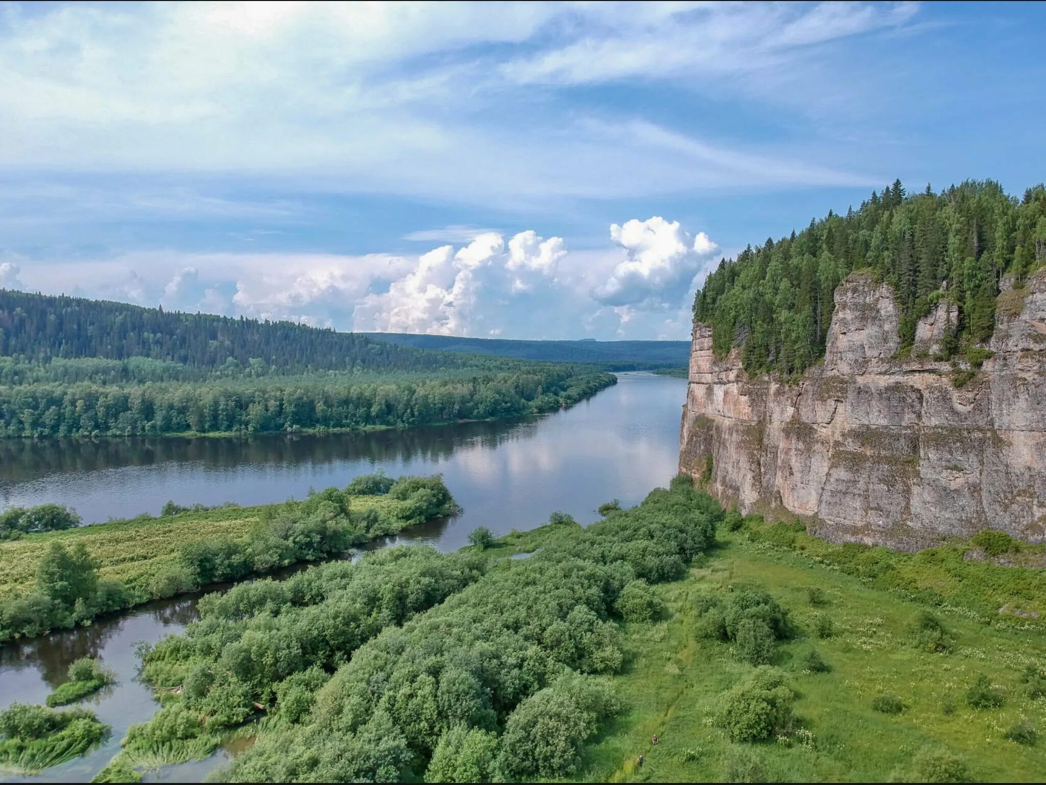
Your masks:
M540 536L527 533L511 544L532 547ZM925 779L927 766L941 768L958 759L977 780L1041 780L1046 744L1006 737L1029 739L1028 728L1046 728L1046 699L1033 700L1022 685L1027 666L1046 661L1039 629L1000 628L976 613L937 608L934 613L956 646L951 654L926 653L909 643L924 604L803 553L722 529L719 536L721 545L685 579L656 587L668 609L665 621L623 625L629 658L615 682L628 709L587 747L574 779L885 781ZM915 555L896 556L904 562ZM929 569L923 580L947 589L949 581L938 578ZM720 696L751 668L732 656L729 644L698 640L696 605L701 596L725 595L738 582L770 590L797 628L774 660L799 694L793 708L800 725L788 738L733 744L714 723ZM811 587L820 589L816 606ZM835 634L816 640L827 672L806 667L819 613L834 620ZM990 674L1005 693L1001 708L977 711L967 704L967 690L979 673ZM883 695L899 696L903 713L876 711L876 698ZM656 746L654 734L660 739Z

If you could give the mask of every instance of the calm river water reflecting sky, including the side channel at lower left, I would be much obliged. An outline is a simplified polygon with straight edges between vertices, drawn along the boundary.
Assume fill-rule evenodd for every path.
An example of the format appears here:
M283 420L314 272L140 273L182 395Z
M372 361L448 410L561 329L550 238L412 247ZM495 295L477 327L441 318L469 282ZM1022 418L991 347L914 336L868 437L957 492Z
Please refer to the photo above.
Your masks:
M478 525L506 534L539 525L554 511L588 523L602 502L634 504L667 484L676 473L685 391L681 379L620 374L616 385L570 409L515 422L243 439L0 441L0 508L55 501L92 523L156 514L167 499L259 504L344 486L378 469L393 476L440 472L463 512L374 546L425 542L452 551ZM128 725L158 708L136 679L134 644L183 630L196 618L197 599L159 601L0 648L0 708L42 703L77 657L100 656L118 676L83 701L113 726L106 744L39 777L0 775L0 781L90 780L118 752ZM228 755L221 750L145 779L200 781Z

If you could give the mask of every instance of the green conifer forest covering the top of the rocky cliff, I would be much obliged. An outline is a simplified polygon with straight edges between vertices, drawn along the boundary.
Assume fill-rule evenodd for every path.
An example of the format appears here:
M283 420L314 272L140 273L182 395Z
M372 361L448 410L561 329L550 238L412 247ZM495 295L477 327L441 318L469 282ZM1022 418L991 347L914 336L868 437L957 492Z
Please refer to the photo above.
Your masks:
M698 291L693 317L711 324L718 355L742 346L747 371L800 373L824 353L836 287L867 269L896 292L902 352L940 298L958 307L951 356L991 338L1004 277L1019 288L1044 263L1043 185L1017 199L991 180L916 195L899 180L845 216L829 211L798 233L723 260Z

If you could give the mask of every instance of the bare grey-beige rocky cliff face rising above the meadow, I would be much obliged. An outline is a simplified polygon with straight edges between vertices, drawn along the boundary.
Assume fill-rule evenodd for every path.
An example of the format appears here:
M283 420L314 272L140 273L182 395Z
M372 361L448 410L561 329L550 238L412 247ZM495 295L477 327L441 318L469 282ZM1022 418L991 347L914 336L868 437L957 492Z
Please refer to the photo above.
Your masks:
M889 286L856 273L835 299L823 365L788 383L748 378L736 349L717 360L695 326L680 470L834 541L1046 541L1046 271L1000 297L995 356L961 388L931 359L954 308L938 304L899 359Z

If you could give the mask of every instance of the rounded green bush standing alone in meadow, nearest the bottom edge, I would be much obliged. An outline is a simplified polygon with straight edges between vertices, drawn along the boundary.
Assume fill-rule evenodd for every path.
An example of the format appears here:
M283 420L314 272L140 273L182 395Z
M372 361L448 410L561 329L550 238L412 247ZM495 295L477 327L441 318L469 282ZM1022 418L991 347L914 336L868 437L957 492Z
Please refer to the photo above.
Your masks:
M717 721L732 741L769 739L791 730L795 697L784 674L764 666L724 693Z

